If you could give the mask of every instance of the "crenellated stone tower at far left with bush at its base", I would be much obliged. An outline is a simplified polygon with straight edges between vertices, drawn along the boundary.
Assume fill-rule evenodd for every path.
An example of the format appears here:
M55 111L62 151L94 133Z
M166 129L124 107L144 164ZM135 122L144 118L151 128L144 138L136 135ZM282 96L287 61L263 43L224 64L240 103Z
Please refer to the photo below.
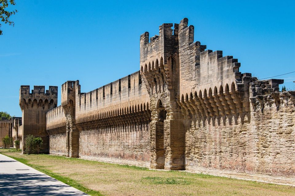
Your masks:
M29 85L22 85L19 90L19 106L22 110L22 151L27 135L43 139L40 149L43 153L49 152L49 138L46 132L46 112L57 107L57 86L49 86L45 92L45 86L34 86L30 93Z

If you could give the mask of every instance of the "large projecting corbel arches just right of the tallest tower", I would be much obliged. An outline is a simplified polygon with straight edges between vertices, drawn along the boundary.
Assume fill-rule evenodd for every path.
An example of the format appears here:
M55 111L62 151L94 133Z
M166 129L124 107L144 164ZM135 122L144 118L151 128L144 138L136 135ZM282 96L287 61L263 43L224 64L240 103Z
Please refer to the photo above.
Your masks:
M199 116L221 116L248 112L248 102L242 102L234 82L230 85L202 89L199 92L189 92L181 95L180 107L182 111L192 117Z

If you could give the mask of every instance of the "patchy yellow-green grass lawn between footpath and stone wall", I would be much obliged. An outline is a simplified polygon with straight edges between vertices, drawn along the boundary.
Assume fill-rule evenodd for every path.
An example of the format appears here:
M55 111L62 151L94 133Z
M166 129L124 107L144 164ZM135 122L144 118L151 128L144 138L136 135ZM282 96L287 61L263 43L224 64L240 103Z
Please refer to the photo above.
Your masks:
M52 155L4 152L89 195L295 195L295 187Z

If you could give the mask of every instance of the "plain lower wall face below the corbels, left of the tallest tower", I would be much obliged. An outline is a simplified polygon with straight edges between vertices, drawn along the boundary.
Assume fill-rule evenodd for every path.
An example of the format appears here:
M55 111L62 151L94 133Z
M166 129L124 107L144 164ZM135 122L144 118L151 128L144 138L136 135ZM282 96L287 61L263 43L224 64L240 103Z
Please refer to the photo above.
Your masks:
M80 131L79 156L105 162L149 167L150 132L148 124L127 129Z

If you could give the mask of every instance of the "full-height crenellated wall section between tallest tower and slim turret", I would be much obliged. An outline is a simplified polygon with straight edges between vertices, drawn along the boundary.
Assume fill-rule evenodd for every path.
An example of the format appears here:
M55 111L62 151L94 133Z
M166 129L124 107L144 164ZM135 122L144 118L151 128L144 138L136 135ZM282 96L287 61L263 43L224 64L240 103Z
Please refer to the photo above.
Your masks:
M77 97L79 156L146 166L149 95L139 72Z

